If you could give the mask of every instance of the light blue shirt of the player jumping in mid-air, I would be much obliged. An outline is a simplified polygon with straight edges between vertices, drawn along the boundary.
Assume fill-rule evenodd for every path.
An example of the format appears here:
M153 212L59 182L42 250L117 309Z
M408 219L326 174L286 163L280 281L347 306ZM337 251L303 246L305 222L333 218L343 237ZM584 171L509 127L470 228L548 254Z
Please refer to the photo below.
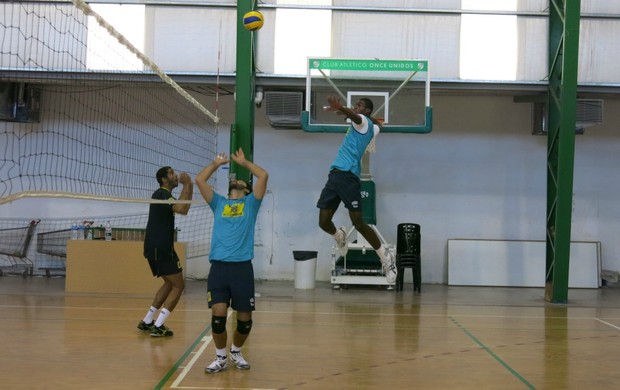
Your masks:
M366 148L370 141L372 141L375 132L372 121L363 115L361 116L362 120L365 120L367 124L363 126L364 123L362 122L362 129L366 127L366 132L360 133L353 127L353 124L349 127L347 135L338 149L336 159L329 168L330 171L338 168L341 171L351 171L358 177L362 174L362 156L364 156L364 152L366 152Z

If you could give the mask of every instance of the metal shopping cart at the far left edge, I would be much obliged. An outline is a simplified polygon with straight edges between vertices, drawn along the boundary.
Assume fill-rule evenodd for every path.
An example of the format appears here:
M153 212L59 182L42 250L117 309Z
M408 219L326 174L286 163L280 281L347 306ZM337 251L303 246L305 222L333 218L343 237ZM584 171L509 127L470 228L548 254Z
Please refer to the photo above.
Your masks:
M24 278L32 275L32 260L28 258L28 249L32 241L34 229L41 222L36 219L28 223L24 227L0 229L0 255L6 257L11 263L11 267L16 267L20 263L26 269L22 273ZM0 276L4 273L0 269Z

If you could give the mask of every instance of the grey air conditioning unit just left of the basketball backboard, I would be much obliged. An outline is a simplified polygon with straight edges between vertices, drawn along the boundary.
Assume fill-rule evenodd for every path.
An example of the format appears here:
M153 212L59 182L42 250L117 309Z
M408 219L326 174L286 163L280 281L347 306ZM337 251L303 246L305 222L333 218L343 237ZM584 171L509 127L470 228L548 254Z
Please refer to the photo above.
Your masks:
M300 129L303 92L265 91L265 109L271 127Z

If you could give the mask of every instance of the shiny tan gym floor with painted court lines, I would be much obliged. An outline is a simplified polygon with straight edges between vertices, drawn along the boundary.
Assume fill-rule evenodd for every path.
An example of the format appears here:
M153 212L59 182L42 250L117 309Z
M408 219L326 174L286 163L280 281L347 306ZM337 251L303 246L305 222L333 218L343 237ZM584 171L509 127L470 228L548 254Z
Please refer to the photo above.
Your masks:
M152 297L69 294L63 277L0 277L6 389L618 388L620 288L411 284L333 289L257 282L252 365L205 374L214 358L205 281L188 281L151 338L136 325ZM154 294L155 292L153 292ZM236 324L229 317L229 334ZM230 344L230 338L229 338Z

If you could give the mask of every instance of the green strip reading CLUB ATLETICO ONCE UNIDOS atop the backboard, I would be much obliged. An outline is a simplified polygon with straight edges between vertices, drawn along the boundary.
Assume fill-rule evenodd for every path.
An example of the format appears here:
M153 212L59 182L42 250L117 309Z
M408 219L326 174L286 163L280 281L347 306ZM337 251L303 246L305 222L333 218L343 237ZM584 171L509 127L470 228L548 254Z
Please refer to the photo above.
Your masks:
M310 69L427 72L427 60L356 60L342 58L308 58Z

